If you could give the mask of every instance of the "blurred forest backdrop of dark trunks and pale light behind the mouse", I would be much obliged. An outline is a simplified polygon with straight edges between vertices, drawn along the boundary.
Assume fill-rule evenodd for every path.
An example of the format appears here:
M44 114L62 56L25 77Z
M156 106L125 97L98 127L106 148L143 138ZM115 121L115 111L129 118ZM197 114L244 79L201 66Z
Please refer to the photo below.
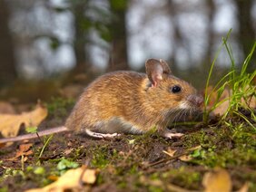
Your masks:
M46 99L104 72L143 72L148 58L202 87L231 28L239 68L256 40L256 0L0 0L0 97ZM216 76L229 64L223 51Z

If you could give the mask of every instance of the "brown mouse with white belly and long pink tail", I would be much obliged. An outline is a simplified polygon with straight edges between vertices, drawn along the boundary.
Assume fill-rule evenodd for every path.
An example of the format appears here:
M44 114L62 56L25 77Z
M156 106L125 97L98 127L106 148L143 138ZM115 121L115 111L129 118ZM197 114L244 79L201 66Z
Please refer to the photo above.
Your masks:
M168 125L183 114L202 110L203 98L188 82L175 77L162 59L148 59L145 73L109 72L91 82L74 105L64 126L0 139L0 143L35 139L63 131L106 139L156 129L164 138L180 138Z

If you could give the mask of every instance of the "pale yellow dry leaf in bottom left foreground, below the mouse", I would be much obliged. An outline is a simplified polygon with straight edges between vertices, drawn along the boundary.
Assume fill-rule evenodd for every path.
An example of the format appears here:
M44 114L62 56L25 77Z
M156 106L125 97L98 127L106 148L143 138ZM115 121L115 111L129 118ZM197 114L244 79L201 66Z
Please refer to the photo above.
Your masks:
M85 184L94 184L96 180L96 174L97 170L95 169L86 168L84 170L83 167L70 169L67 172L65 172L61 178L58 178L58 180L55 181L54 183L43 188L34 188L27 190L27 192L62 192L67 191L69 189L79 189L81 187L80 181L84 182Z

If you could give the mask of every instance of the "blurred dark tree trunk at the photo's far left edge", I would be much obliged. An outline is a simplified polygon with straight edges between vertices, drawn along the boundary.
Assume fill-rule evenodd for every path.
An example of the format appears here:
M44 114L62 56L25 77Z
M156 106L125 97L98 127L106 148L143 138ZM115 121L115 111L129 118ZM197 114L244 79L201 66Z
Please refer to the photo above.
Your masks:
M9 10L5 0L0 1L0 86L13 82L17 77L15 69L15 47L8 28Z

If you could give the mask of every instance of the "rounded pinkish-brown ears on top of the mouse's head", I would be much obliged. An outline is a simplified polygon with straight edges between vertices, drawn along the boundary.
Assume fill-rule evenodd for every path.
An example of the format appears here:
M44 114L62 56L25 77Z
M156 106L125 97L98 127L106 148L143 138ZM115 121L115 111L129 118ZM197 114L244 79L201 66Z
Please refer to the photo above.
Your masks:
M167 62L162 59L149 59L145 63L146 73L149 80L153 83L153 87L157 86L162 81L163 74L171 74L171 69Z

